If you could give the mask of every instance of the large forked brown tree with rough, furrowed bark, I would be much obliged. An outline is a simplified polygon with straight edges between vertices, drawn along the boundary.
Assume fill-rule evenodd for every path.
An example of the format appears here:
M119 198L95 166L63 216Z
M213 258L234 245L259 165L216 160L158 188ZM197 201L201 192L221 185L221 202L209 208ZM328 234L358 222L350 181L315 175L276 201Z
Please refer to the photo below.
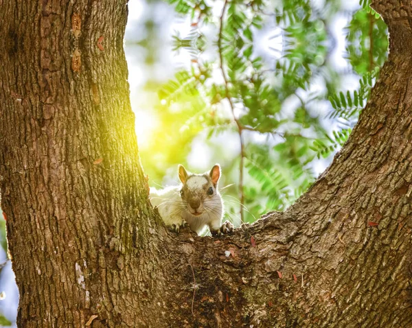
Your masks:
M374 8L390 54L345 147L287 211L213 239L176 236L148 202L126 1L4 3L1 208L18 325L409 327L412 5Z

